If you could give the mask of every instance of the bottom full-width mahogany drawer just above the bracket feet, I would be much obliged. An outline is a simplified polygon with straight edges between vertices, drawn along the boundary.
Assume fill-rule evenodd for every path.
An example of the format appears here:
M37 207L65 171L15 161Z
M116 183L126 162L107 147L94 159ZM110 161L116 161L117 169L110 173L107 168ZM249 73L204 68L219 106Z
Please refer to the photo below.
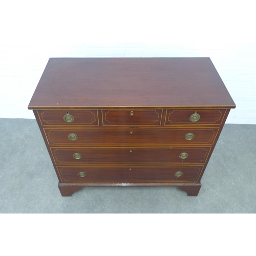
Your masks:
M57 166L61 182L183 182L198 181L203 166L68 167ZM80 177L81 176L81 177Z

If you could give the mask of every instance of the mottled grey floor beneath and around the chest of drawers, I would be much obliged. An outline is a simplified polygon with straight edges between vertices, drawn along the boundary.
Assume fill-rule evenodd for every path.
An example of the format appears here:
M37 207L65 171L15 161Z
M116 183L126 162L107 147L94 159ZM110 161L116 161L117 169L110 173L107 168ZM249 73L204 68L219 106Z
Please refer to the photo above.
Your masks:
M198 197L175 187L86 187L61 197L36 121L0 118L0 212L256 213L255 132L225 124Z

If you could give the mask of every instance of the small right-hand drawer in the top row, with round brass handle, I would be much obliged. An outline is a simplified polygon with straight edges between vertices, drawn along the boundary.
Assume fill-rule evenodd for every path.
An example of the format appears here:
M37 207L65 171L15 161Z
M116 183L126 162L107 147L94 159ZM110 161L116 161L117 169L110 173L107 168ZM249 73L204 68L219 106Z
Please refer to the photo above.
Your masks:
M221 124L226 110L167 110L165 125Z

